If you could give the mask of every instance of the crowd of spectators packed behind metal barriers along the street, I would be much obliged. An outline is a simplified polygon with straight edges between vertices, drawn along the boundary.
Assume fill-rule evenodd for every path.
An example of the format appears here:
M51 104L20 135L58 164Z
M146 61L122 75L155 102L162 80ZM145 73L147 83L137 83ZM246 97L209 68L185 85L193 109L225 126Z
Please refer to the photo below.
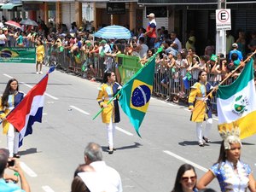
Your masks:
M172 100L177 98L175 96L187 96L189 84L195 83L200 70L207 71L208 80L216 85L256 48L256 32L251 32L251 38L246 41L245 32L239 32L235 40L228 31L227 55L215 55L212 41L208 42L204 53L196 52L196 41L199 39L195 38L194 30L189 32L188 40L182 44L177 32L169 32L161 26L156 30L154 48L149 49L152 45L148 46L147 37L144 35L146 30L143 27L132 32L133 37L129 41L94 39L91 35L94 28L91 29L89 31L86 26L79 27L76 22L71 24L70 29L65 24L46 26L44 20L39 18L38 26L22 26L22 30L3 27L3 32L0 30L0 44L4 42L2 46L33 47L40 39L45 46L45 65L55 64L58 61L57 56L61 55L68 62L66 68L73 67L73 70L81 71L84 78L93 80L102 78L105 69L114 69L117 66L117 54L137 56L144 65L156 49L163 47L163 52L156 58L154 92L167 96L166 99L172 97ZM63 60L59 59L58 62L63 65ZM99 67L99 62L102 62L102 68ZM234 73L227 82L236 79L240 71Z

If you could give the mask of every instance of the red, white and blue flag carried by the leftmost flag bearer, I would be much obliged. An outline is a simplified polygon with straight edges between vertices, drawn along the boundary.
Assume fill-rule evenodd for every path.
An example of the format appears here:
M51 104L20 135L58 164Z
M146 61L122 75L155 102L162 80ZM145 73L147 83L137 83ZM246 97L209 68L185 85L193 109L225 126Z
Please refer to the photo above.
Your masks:
M32 134L34 122L42 122L44 108L44 93L47 87L49 73L55 68L50 68L49 72L39 81L23 98L23 100L9 113L7 120L20 132L20 143L23 138Z

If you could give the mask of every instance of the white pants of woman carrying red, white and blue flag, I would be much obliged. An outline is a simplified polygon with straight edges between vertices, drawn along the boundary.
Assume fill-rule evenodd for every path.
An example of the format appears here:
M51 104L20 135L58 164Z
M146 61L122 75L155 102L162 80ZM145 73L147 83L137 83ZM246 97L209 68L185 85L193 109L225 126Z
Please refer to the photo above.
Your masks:
M9 124L9 130L7 132L7 148L9 149L10 157L13 157L14 154L18 154L19 135L20 133L15 131L15 127Z

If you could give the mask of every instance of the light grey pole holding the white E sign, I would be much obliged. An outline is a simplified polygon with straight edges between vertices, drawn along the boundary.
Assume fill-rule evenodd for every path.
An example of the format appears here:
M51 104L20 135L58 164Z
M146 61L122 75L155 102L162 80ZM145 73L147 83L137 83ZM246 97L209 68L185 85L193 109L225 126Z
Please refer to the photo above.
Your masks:
M218 0L218 9L226 9L226 0ZM216 31L216 55L222 53L226 55L226 30Z

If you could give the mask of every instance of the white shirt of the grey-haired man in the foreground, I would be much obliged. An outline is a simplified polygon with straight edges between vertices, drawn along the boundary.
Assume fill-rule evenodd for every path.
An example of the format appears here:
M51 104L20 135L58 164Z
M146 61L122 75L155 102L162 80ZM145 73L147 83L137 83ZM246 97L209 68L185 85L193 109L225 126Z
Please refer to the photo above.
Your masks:
M122 182L119 172L113 169L110 166L107 166L104 161L96 161L90 163L90 166L93 166L99 178L97 184L105 185L106 192L122 192ZM86 183L85 183L86 184ZM89 187L89 186L88 186ZM91 192L94 192L90 190Z

